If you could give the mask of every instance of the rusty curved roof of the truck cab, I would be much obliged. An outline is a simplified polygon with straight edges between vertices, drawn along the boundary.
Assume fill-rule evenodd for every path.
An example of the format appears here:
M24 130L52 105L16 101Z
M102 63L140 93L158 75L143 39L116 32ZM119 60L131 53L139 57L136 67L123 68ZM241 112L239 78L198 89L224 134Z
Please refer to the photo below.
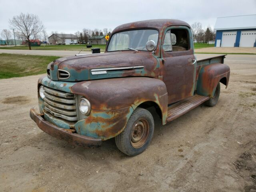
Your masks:
M176 20L176 19L152 19L152 20L144 20L144 21L136 21L131 23L122 24L120 26L117 26L112 33L115 33L120 30L128 30L132 28L157 28L159 31L162 28L166 28L170 25L182 25L182 26L188 26L190 25L184 21Z

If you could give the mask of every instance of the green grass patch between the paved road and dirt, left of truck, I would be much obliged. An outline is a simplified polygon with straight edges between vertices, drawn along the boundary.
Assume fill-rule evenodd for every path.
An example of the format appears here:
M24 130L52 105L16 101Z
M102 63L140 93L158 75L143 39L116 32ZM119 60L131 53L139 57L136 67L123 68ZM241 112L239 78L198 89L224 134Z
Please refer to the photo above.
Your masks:
M46 73L47 65L57 56L0 54L0 79Z

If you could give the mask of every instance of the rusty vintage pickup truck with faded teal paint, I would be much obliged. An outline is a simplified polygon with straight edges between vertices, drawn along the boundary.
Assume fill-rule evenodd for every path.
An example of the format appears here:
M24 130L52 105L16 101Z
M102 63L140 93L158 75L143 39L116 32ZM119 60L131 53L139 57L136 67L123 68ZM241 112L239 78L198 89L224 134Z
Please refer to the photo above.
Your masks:
M143 152L162 124L200 104L214 106L228 86L225 55L197 60L191 27L180 20L145 20L114 29L106 51L59 58L38 80L40 112L30 117L44 132L80 146L115 138L128 156Z

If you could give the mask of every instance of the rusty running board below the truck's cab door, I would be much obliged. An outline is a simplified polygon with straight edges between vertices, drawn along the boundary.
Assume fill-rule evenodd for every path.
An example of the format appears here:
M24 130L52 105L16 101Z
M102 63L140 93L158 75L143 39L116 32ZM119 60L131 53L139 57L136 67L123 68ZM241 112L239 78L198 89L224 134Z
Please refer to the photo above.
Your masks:
M170 122L207 101L209 97L194 95L168 107L167 121Z

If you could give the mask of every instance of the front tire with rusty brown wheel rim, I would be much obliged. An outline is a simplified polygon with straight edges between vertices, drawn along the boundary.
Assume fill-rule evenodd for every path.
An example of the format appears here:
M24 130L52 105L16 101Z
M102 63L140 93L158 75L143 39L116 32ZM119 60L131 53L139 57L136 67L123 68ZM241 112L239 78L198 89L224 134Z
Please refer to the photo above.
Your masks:
M154 134L152 114L143 108L136 108L123 132L115 137L117 148L128 156L136 156L149 146Z

